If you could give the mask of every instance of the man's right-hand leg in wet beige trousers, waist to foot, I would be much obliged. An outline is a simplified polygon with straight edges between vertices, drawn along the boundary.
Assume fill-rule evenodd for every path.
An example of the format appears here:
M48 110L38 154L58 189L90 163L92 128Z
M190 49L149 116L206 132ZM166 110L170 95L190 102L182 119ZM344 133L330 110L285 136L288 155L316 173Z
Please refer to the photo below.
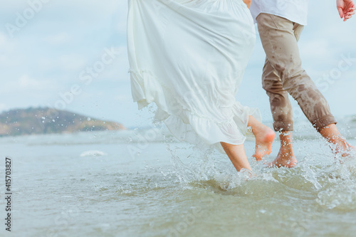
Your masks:
M271 14L260 14L257 21L268 62L281 78L283 89L297 100L305 116L325 139L332 142L330 137L341 137L335 130L336 120L328 102L301 68L298 39L303 26ZM345 139L333 141L340 150L345 148Z

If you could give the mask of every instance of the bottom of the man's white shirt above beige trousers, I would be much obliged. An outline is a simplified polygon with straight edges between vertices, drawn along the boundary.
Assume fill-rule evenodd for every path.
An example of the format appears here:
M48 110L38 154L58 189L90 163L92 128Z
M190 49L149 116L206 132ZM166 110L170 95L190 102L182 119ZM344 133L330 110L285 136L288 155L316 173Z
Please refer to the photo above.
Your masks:
M252 0L250 11L256 22L261 13L281 16L305 26L308 18L309 0Z

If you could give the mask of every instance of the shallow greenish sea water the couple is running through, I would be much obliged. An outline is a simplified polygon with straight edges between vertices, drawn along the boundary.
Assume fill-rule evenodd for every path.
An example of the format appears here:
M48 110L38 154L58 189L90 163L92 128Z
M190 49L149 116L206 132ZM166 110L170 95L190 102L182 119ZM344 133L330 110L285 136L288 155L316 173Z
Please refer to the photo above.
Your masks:
M339 126L356 145L353 120ZM246 142L248 157L253 147ZM356 159L335 162L303 122L294 148L298 167L249 158L256 177L248 178L226 155L159 127L1 137L0 236L356 236ZM276 140L266 160L278 149Z

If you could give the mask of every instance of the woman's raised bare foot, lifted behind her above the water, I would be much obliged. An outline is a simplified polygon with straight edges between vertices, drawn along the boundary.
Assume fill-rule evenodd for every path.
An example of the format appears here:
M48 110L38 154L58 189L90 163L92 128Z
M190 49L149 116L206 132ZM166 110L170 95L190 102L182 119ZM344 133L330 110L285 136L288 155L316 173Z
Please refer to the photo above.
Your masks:
M258 127L258 130L253 130L253 134L256 137L256 149L253 157L255 157L256 161L261 161L266 154L271 154L272 143L276 133L271 128L263 125L263 127Z

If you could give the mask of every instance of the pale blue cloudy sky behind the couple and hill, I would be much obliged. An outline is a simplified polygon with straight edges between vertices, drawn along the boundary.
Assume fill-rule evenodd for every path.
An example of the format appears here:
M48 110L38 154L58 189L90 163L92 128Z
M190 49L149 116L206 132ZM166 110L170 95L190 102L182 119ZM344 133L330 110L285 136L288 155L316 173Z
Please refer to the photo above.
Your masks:
M150 125L150 112L132 102L126 20L127 0L1 0L0 112L56 107L126 127ZM299 42L303 68L336 117L356 115L355 29L356 17L343 22L335 1L310 1ZM264 58L257 38L236 100L271 121ZM293 107L295 119L304 119Z

